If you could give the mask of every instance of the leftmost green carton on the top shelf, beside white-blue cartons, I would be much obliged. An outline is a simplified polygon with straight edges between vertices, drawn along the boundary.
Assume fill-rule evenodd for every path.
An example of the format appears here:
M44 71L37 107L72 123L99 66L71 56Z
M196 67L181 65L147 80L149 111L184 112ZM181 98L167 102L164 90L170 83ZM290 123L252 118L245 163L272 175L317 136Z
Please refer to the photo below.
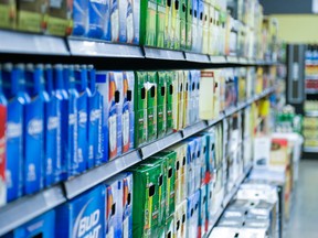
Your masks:
M140 44L156 46L157 0L142 0L140 11Z

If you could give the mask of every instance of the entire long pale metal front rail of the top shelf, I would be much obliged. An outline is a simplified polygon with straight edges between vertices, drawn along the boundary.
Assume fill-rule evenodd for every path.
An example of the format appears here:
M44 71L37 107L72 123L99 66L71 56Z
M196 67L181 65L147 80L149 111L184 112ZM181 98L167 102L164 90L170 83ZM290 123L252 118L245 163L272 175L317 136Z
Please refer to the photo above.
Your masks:
M139 45L116 44L81 37L55 37L0 30L0 54L54 55L109 58L151 58L200 64L276 65L276 62L236 56L210 56L183 51L170 51Z

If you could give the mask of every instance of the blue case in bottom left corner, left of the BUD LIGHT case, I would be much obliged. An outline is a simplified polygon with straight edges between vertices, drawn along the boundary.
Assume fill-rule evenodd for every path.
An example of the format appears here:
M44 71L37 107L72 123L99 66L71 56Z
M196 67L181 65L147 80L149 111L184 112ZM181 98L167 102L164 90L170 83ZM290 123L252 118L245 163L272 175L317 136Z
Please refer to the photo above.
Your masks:
M6 238L54 238L55 237L55 212L50 210L25 224L18 227L10 234L4 236Z

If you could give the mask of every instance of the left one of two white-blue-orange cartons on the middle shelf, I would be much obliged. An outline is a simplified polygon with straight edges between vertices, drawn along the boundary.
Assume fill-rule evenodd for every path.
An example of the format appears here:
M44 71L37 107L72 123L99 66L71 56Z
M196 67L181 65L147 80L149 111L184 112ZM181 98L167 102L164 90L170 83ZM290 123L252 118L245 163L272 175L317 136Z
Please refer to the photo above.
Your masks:
M109 101L108 101L108 129L109 129L109 160L123 152L121 115L123 115L123 73L109 72Z

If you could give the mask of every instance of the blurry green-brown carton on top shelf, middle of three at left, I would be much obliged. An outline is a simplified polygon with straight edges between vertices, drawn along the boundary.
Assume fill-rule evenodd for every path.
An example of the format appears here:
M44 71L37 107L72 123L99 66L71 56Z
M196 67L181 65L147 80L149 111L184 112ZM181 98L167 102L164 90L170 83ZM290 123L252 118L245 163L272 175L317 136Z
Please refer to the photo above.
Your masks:
M40 33L46 14L45 7L42 0L18 0L18 29Z

